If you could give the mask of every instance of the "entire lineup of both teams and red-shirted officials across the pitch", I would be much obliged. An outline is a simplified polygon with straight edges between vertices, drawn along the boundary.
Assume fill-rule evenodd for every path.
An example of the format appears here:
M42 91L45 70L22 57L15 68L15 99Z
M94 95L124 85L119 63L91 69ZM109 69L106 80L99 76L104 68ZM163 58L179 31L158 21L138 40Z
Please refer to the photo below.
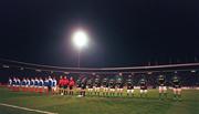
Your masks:
M157 77L157 86L159 90L159 100L167 99L167 90L169 86L172 87L174 100L181 100L181 83L177 75L166 81L165 75ZM93 77L78 76L75 81L73 76L60 76L59 80L55 77L9 77L8 86L12 91L23 92L39 92L39 93L52 93L60 95L75 95L78 96L123 96L126 94L129 97L135 96L135 87L139 89L139 96L147 97L148 85L147 80L142 77L138 82L138 87L134 83L132 75L127 79L123 77L122 73L118 73L114 77L105 76L101 79L100 75Z

